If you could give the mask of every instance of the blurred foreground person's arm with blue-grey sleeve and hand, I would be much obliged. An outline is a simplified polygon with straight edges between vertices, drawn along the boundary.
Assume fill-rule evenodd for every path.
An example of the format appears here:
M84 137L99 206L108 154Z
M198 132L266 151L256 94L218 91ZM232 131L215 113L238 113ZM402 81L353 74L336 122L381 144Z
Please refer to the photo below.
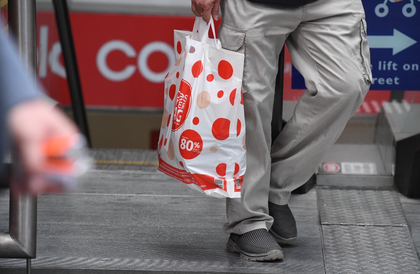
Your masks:
M61 191L43 177L47 140L78 133L77 127L50 102L42 97L33 76L27 73L15 46L0 32L0 174L4 171L6 149L15 145L21 159L26 184L21 190Z

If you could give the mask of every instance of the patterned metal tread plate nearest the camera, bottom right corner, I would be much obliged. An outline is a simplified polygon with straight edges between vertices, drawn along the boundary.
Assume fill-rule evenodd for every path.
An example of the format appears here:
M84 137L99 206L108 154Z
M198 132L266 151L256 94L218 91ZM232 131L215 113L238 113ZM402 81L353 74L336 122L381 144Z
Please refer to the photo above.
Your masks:
M328 274L417 274L408 227L323 225Z

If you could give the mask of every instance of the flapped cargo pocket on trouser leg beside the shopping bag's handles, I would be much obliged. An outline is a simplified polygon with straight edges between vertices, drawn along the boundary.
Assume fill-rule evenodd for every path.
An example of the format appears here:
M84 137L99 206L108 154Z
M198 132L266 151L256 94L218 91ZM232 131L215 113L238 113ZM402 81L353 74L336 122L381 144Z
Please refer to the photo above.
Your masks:
M219 28L219 40L222 48L231 50L237 53L245 54L245 30L229 26L221 23ZM247 86L247 55L244 59L244 75L242 76L242 87ZM247 88L243 89L243 93L247 93Z

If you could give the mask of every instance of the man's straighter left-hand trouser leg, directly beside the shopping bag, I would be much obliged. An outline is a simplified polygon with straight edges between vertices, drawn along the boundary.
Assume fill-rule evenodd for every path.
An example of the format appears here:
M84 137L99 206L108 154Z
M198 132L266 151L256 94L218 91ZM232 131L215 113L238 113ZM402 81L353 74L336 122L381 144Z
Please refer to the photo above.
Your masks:
M271 117L278 56L288 33L302 19L302 8L277 8L247 0L222 0L219 38L223 47L245 54L244 109L247 171L241 198L227 199L225 232L268 229Z

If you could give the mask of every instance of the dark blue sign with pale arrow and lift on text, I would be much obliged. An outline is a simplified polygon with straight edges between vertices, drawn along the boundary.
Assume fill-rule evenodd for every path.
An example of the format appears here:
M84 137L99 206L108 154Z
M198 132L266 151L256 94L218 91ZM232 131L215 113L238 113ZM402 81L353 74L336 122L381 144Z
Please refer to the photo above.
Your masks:
M420 0L362 0L373 75L371 90L420 90ZM292 68L292 88L305 89Z

